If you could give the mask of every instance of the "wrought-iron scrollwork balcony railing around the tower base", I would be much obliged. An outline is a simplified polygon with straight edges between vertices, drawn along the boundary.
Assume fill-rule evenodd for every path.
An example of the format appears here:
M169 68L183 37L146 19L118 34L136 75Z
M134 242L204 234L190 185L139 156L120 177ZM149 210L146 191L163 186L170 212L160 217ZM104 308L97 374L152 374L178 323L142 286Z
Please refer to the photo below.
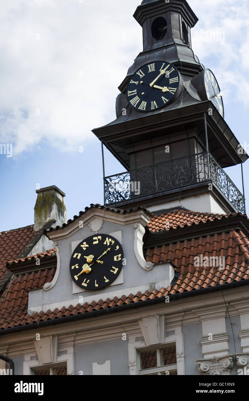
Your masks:
M105 203L113 204L212 180L238 212L245 198L209 152L105 177Z

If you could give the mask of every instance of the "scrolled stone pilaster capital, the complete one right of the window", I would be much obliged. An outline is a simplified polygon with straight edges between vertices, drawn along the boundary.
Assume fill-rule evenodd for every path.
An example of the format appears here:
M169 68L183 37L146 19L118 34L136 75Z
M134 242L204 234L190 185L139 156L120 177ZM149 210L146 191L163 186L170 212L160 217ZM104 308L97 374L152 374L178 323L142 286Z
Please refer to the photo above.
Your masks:
M214 358L197 359L201 375L230 375L233 369L233 355L228 354Z

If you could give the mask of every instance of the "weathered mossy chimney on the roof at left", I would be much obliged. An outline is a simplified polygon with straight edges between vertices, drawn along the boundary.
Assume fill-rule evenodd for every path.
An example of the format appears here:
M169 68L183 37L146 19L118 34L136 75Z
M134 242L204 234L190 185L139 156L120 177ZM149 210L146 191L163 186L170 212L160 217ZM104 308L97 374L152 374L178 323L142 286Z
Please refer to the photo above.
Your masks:
M51 227L67 223L67 211L64 192L57 186L47 186L36 190L37 199L34 207L34 230L40 230L48 221L56 220Z

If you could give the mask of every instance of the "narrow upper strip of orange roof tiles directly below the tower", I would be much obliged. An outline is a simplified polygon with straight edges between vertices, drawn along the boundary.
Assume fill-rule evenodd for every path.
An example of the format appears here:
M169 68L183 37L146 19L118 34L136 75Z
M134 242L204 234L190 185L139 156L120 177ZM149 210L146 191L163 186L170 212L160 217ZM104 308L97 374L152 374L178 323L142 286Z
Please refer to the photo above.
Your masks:
M232 216L242 216L242 214L231 213L229 218ZM243 216L246 217L246 215ZM220 215L216 213L199 213L175 209L161 215L153 215L148 223L148 228L152 233L160 233L172 229L227 219L227 217L228 215Z

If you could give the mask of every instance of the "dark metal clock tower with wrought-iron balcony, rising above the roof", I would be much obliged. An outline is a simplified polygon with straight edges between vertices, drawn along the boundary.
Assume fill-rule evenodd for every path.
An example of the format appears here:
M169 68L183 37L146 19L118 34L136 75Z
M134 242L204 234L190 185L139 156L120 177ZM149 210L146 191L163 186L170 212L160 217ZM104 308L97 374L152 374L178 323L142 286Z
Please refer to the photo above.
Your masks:
M248 156L225 122L214 73L193 53L197 17L185 0L143 0L133 16L143 51L118 88L116 120L93 130L126 170L104 174L104 204L245 213L244 193L223 169L243 172Z

